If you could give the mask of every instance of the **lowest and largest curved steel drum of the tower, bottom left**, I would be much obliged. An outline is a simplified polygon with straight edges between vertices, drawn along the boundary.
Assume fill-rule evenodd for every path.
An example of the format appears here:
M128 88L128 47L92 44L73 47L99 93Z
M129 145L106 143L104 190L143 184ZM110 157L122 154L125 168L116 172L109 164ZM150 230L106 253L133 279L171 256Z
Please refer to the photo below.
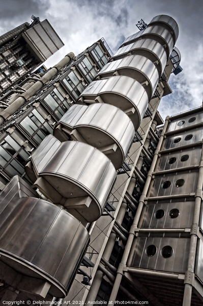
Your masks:
M17 193L11 197L15 188L10 187L3 191L1 202L0 266L3 262L14 275L26 276L33 284L36 279L45 281L49 294L65 297L89 243L89 233L77 219L50 202ZM2 274L0 269L0 277L9 284L11 274ZM25 290L22 282L19 286ZM30 290L35 293L35 286Z

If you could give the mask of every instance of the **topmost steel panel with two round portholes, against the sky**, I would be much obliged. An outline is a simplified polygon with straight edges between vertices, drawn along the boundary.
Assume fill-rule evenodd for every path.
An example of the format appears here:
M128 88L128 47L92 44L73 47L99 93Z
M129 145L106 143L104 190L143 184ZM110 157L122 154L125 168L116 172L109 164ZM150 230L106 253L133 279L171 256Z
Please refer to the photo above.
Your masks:
M190 127L195 124L201 124L203 122L203 112L191 114L176 120L172 120L167 127L167 132L178 131Z

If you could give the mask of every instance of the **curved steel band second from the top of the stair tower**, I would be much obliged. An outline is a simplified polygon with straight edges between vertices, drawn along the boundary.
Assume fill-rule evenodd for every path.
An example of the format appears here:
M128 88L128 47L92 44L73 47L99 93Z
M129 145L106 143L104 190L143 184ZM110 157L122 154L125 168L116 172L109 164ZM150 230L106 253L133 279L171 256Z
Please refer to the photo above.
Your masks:
M158 41L165 48L167 57L169 57L172 48L175 45L175 42L173 41L172 34L170 33L170 31L162 27L162 25L151 25L146 29L129 36L121 45L121 47L130 44L132 42L135 42L140 37L142 38L146 37Z

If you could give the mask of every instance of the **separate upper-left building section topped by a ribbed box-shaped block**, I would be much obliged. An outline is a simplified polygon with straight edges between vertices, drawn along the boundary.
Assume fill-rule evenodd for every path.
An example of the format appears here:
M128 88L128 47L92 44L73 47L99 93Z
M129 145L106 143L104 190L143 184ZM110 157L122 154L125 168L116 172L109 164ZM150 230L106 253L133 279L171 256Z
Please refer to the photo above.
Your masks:
M0 36L0 94L20 91L12 87L64 46L47 19L32 19Z

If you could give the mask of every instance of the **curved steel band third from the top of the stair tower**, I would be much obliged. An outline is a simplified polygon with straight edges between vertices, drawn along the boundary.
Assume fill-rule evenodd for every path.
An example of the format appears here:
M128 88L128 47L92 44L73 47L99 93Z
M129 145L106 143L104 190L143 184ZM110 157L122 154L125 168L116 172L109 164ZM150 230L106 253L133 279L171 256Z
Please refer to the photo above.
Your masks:
M159 72L159 77L161 77L167 62L167 56L164 47L159 42L150 38L140 38L136 42L118 49L112 59L122 59L128 54L145 56L154 63L158 61L155 65Z

